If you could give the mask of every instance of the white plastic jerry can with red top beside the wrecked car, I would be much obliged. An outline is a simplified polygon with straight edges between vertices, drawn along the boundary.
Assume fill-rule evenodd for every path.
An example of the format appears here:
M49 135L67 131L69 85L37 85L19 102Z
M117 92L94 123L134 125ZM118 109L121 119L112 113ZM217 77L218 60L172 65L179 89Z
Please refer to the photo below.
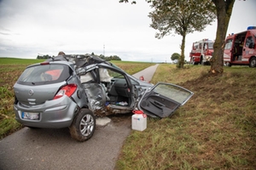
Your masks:
M132 111L131 128L133 130L143 131L147 128L147 115L143 111Z

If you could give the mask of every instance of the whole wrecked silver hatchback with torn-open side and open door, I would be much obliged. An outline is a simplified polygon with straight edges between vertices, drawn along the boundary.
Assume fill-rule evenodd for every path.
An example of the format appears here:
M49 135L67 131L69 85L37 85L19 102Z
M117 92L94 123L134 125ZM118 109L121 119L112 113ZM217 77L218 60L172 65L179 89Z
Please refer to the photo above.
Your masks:
M141 110L148 116L172 116L193 95L174 84L144 82L118 66L87 55L62 55L29 65L15 83L15 119L26 127L69 127L85 141L96 116Z

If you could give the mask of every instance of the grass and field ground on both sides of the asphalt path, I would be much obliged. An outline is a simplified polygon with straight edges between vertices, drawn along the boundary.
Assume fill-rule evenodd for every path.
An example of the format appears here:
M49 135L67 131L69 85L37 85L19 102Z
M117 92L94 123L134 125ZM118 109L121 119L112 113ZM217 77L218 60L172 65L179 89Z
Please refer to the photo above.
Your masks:
M43 59L44 60L44 59ZM13 111L13 85L26 65L38 59L0 58L1 139L19 129ZM152 63L113 61L130 74ZM148 117L147 129L131 131L115 169L256 169L256 69L160 64L152 83L170 82L194 96L172 117Z

